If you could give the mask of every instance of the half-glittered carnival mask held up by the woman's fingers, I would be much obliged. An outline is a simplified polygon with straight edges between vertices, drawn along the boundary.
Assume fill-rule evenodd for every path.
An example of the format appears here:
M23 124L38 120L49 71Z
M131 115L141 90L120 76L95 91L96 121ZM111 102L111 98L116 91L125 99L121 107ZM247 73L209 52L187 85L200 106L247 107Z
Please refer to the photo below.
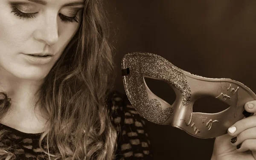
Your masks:
M175 90L175 102L170 105L154 95L144 77L169 83ZM150 122L180 128L198 138L227 134L231 125L252 115L244 112L244 104L256 100L253 91L238 81L193 75L151 53L124 55L122 78L128 99L141 116ZM214 97L230 107L219 113L193 112L194 102L204 96Z

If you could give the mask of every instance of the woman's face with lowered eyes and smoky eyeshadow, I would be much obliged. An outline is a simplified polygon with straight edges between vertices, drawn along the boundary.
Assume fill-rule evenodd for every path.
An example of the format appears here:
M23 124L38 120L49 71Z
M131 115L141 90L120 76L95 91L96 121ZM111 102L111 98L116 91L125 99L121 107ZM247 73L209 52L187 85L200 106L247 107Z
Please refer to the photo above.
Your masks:
M0 0L0 73L44 79L79 29L83 1ZM31 61L35 53L52 57Z

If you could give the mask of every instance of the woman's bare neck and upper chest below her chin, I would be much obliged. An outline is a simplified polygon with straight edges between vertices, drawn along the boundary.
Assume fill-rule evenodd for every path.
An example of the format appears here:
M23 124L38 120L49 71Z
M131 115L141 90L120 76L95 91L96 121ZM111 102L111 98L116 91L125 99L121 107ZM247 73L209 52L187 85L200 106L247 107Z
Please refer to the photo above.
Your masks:
M43 131L47 119L42 116L40 104L35 108L35 93L43 79L20 79L1 69L0 75L0 92L6 92L8 98L12 99L9 111L1 117L0 123L25 133Z

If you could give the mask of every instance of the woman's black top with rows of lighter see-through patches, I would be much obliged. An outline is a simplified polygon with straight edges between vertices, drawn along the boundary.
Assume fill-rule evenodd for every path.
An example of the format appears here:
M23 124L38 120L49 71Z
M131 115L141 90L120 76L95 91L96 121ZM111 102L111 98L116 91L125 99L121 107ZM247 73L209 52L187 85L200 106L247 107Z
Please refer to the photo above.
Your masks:
M126 94L113 91L108 98L108 107L118 133L116 160L152 160L150 141L144 130L145 122ZM40 133L28 134L3 124L0 124L0 129L10 131L0 142L0 147L15 146L12 151L17 157L16 160L44 160L47 157L39 148ZM42 143L42 147L46 149L46 143Z

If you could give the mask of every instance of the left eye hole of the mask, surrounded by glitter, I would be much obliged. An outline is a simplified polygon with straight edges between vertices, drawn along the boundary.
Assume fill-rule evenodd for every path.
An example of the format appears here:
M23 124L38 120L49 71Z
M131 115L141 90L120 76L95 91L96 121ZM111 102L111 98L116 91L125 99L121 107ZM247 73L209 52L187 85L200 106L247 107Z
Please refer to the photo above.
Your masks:
M144 80L151 92L153 92L156 96L163 99L170 105L175 102L176 94L169 83L167 83L166 81L152 79L145 76Z

